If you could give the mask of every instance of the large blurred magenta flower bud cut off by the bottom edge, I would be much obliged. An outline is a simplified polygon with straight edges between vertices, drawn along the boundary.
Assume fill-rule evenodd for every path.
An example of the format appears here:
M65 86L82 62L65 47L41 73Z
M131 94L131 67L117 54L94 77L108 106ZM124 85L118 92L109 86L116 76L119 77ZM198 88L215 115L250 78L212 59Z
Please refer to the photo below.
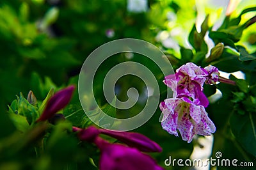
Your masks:
M95 144L101 151L99 165L101 170L163 170L163 167L158 166L152 157L136 148L110 144L100 137L97 137Z

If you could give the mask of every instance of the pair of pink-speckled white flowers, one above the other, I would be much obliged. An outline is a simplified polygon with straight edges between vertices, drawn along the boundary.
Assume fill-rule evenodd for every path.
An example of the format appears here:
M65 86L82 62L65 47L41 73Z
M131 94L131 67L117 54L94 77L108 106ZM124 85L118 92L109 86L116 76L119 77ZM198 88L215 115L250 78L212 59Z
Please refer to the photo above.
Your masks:
M164 84L170 87L176 98L167 98L161 102L163 112L162 127L190 143L195 134L211 135L216 128L207 116L205 107L209 105L203 93L205 84L215 84L219 80L218 68L207 66L201 68L194 63L187 63L177 69L175 76L168 75Z

